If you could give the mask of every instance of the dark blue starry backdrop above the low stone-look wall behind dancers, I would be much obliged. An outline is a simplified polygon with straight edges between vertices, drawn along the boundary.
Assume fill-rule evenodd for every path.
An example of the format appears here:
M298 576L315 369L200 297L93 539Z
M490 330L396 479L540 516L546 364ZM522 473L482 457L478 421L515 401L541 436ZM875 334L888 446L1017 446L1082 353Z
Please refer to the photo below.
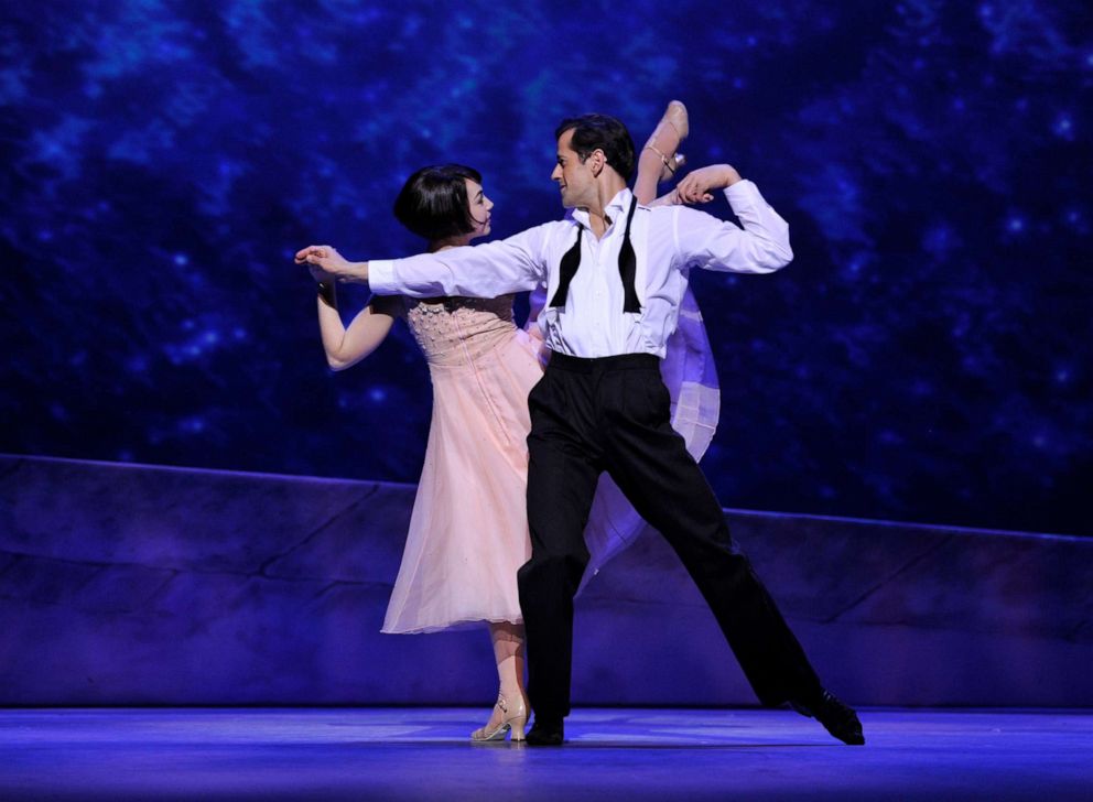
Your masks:
M754 178L797 252L694 280L722 501L1089 534L1087 10L6 3L0 451L414 480L412 340L332 375L293 251L419 250L391 203L442 161L496 236L555 219L560 118L640 143L680 98L691 163Z

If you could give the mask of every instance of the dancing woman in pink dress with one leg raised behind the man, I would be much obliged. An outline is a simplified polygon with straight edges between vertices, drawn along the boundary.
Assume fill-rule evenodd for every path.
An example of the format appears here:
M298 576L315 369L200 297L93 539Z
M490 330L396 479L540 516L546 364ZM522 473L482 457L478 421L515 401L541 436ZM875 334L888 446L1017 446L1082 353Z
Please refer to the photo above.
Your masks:
M675 150L686 133L686 109L672 101L639 160L635 194L640 203L708 199L680 197L675 192L654 199L658 182L682 164ZM470 167L424 167L402 187L394 215L429 242L430 252L468 245L490 231L493 203L481 183L481 175ZM333 248L320 249L326 258L340 259ZM305 262L315 250L301 250L296 261ZM472 739L504 739L511 730L513 740L522 740L528 701L517 571L531 556L526 508L528 393L542 377L534 304L529 330L523 330L513 321L512 295L377 296L345 327L333 277L315 265L311 272L318 281L320 332L334 370L371 354L394 319L402 317L429 362L433 384L424 466L382 631L433 632L486 621L499 693L489 720ZM708 350L703 350L707 344L696 307L691 325L697 328L688 338L678 338L680 355L674 362L678 368L690 360L692 376L669 383L692 393L677 399L690 412L689 425L680 429L692 452L701 453L716 421L715 391L711 399L716 378ZM699 408L704 412L696 415ZM587 534L594 555L589 575L640 528L640 519L617 488L605 481L600 490Z

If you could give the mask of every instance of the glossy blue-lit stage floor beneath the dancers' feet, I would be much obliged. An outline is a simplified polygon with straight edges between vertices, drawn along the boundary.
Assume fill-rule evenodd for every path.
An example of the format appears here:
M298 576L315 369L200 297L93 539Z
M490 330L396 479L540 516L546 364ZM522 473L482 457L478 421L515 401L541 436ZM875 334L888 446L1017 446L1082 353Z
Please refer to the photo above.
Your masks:
M1093 799L1093 711L578 709L561 748L474 745L486 711L2 709L19 800Z

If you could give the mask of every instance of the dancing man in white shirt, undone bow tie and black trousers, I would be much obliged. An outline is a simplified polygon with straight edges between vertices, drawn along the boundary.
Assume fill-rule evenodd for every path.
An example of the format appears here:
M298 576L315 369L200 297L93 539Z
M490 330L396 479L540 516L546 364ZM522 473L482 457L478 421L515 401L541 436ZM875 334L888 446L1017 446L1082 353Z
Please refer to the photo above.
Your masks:
M721 503L669 420L659 370L694 268L769 273L792 259L789 227L727 164L694 171L684 202L724 189L743 229L696 209L649 207L627 188L634 142L613 117L555 131L566 218L506 240L394 261L347 262L326 246L297 261L377 294L495 297L546 286L539 323L552 351L531 391L528 520L519 571L528 639L528 743L564 740L570 713L573 597L588 561L583 531L606 470L675 550L759 701L790 703L846 744L864 744L853 709L821 684L773 599L729 535Z

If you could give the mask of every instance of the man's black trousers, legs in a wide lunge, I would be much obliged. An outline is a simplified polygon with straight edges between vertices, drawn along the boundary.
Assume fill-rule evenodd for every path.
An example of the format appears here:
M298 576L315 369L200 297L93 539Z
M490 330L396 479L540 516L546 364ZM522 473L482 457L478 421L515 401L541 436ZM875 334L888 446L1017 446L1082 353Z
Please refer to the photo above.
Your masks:
M759 701L814 698L815 672L671 426L660 360L554 354L528 403L532 551L519 587L535 715L560 719L570 712L573 596L588 562L584 528L603 470L675 550Z

